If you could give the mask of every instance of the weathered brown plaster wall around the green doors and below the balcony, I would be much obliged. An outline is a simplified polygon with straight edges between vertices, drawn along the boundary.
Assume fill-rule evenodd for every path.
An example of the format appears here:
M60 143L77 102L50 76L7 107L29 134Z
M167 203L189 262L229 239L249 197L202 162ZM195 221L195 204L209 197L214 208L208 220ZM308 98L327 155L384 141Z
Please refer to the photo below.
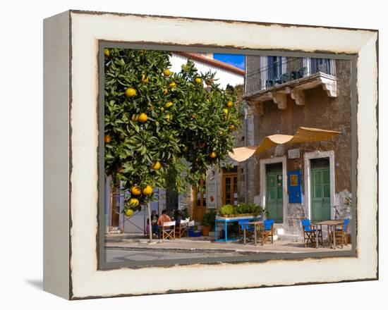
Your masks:
M247 59L250 70L257 70L259 57L250 56ZM257 145L263 137L274 134L293 135L301 127L321 128L337 130L340 135L332 140L323 142L310 142L301 144L281 145L258 156L253 156L247 161L248 171L248 202L259 201L260 193L260 159L270 157L286 156L287 171L302 170L303 155L309 151L334 151L334 178L335 178L335 206L334 211L339 217L350 217L350 208L346 197L351 196L351 85L350 85L350 62L336 61L337 72L337 97L327 96L322 87L315 87L305 92L305 106L297 106L293 99L288 96L287 108L278 109L273 101L266 101L263 104L263 116L250 116L248 119L248 145ZM241 146L243 144L240 144ZM301 149L299 159L288 159L289 149ZM240 163L238 168L239 192L243 194L245 184L242 169L245 163ZM303 188L303 196L305 188ZM255 199L256 197L256 199ZM304 197L303 197L304 198ZM288 204L284 228L286 233L300 234L300 220L305 217L305 211L301 204Z

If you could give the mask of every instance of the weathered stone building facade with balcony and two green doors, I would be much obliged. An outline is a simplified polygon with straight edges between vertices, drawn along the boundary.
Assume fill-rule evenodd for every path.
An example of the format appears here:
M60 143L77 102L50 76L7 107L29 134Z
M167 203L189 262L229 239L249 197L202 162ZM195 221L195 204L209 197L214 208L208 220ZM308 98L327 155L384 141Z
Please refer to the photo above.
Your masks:
M322 142L280 144L239 163L238 195L246 190L248 202L270 209L279 234L301 235L302 218L350 218L350 61L247 56L243 98L251 109L239 146L245 140L258 145L268 135L293 135L301 126L340 134ZM300 193L296 201L290 190Z

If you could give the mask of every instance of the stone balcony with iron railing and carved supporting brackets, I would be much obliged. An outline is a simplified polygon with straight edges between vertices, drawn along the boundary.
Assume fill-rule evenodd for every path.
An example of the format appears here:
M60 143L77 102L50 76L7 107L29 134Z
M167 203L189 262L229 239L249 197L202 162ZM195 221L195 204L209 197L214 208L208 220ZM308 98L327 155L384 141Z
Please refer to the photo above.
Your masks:
M290 95L297 105L305 104L305 90L322 85L328 97L337 97L335 62L321 58L282 58L245 75L244 99L251 104L272 100L287 108Z

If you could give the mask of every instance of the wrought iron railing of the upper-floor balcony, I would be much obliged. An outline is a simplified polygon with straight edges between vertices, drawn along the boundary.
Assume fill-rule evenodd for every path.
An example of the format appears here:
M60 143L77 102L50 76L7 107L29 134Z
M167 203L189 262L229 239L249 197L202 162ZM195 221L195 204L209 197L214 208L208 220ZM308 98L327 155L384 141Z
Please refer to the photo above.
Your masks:
M335 76L334 60L324 58L286 58L245 75L245 95L277 87L303 77L326 73Z

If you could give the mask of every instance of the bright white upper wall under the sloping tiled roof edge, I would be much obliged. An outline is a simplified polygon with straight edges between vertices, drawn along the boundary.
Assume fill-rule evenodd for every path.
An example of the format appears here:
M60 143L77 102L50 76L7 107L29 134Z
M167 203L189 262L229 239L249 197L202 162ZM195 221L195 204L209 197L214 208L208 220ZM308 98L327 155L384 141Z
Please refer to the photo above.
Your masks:
M170 58L171 61L171 71L179 72L181 71L181 66L187 63L188 58L183 57L181 55L173 54ZM192 60L193 61L193 60ZM226 85L236 86L242 85L244 82L243 75L237 75L236 73L231 73L226 70L222 70L220 68L210 66L205 63L200 63L199 61L193 61L195 64L195 68L198 69L200 73L207 73L211 71L212 73L216 72L215 78L218 79L215 81L219 84L223 89L225 89Z

